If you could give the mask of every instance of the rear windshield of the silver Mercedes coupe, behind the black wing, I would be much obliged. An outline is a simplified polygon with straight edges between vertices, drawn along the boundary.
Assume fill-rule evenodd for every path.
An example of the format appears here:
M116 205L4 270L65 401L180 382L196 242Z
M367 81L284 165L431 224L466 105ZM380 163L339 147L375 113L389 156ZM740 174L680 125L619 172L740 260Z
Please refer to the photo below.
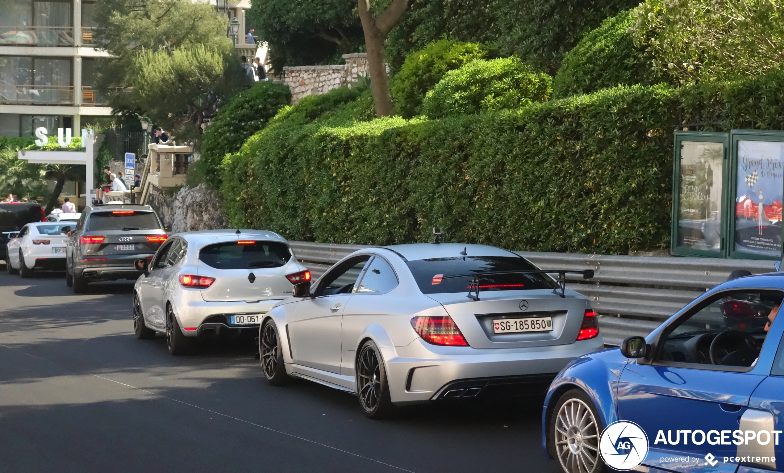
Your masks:
M474 275L480 291L552 289L555 282L543 274L485 275L496 271L538 271L523 257L449 257L407 261L419 290L425 294L467 293ZM458 278L449 276L466 275Z

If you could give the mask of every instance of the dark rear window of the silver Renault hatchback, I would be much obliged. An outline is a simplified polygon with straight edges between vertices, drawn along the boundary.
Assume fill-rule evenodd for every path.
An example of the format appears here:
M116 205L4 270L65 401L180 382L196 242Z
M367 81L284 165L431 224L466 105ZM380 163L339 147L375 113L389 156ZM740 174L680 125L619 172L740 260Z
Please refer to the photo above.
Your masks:
M198 254L201 262L217 269L281 267L291 257L285 243L256 241L216 243L205 246Z

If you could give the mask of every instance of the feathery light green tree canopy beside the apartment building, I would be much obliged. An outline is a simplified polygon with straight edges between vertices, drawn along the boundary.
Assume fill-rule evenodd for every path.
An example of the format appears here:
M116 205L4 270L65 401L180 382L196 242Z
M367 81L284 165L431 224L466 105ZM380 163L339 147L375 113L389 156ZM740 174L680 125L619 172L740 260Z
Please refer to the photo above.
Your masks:
M177 136L201 133L216 104L244 74L226 36L227 19L189 0L97 4L101 60L96 86L117 115L147 115Z

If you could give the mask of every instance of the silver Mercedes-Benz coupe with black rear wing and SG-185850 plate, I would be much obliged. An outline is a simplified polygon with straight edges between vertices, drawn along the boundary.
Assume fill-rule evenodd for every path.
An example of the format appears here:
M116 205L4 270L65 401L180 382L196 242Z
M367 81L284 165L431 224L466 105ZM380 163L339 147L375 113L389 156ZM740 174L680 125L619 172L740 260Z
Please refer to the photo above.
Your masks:
M564 269L484 245L362 249L263 315L264 376L355 393L373 418L437 399L543 394L568 362L603 348L596 312L564 287L565 272L593 271Z

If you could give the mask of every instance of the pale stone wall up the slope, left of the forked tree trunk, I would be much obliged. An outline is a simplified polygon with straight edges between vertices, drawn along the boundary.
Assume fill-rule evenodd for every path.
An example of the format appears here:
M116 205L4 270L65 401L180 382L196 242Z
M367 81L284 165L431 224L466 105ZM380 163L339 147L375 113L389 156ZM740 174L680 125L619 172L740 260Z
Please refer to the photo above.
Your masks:
M343 54L346 64L283 67L283 83L292 91L292 104L309 95L321 95L368 75L368 54Z

